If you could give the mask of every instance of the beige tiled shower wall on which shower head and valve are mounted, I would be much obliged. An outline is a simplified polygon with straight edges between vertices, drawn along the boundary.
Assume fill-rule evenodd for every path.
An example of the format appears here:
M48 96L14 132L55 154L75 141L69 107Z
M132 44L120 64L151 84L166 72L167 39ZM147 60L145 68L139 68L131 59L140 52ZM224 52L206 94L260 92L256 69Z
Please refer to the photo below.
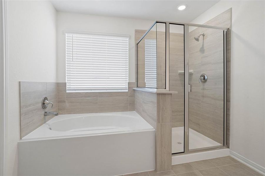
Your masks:
M230 28L231 9L205 23ZM230 30L228 31L230 35ZM195 36L206 33L200 41ZM230 38L228 36L228 38ZM227 41L230 45L230 39ZM189 70L192 92L189 93L189 127L223 144L224 126L224 66L223 32L215 29L196 28L189 33ZM229 144L230 102L230 53L227 56L227 139ZM202 73L208 76L206 83L199 83Z

